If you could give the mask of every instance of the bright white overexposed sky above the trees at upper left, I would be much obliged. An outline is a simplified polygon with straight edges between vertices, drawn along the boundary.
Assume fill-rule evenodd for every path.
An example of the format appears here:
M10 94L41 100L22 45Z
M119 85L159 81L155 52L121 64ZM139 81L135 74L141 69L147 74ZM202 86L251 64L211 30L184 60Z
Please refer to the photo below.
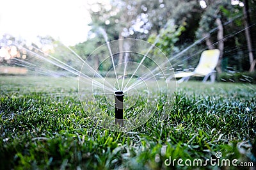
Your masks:
M90 30L87 0L0 0L0 38L8 33L28 42L50 35L65 45L84 42Z

